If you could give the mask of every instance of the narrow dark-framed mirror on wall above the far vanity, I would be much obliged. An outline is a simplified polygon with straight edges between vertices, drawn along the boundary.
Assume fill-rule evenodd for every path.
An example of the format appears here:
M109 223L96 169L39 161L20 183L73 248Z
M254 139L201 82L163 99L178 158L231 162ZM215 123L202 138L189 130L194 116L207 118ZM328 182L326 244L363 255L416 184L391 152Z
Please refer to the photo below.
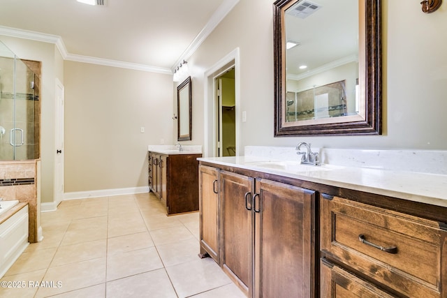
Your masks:
M177 87L177 140L191 140L191 77Z

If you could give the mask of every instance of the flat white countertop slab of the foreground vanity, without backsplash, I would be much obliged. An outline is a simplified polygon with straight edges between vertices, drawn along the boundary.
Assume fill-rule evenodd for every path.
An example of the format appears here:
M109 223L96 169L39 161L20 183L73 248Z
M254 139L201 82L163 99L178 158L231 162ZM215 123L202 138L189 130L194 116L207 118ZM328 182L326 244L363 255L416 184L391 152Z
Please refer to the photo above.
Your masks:
M298 165L299 162L296 161L295 156L294 158ZM312 169L314 165L298 165L295 168L298 167L300 170L296 170L290 159L286 161L282 158L272 158L272 156L198 158L198 160L447 207L447 174L340 164L323 164L318 170ZM292 166L288 169L265 167L266 162L274 161L279 163L286 161Z

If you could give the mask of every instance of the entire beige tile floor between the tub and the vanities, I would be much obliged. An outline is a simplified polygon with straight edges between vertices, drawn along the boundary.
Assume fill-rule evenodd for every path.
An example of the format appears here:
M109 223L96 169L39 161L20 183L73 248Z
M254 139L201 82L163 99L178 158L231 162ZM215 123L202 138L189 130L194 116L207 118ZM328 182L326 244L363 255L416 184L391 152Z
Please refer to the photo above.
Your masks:
M198 213L166 216L152 193L67 200L42 227L43 241L1 278L24 288L0 297L244 297L198 258Z

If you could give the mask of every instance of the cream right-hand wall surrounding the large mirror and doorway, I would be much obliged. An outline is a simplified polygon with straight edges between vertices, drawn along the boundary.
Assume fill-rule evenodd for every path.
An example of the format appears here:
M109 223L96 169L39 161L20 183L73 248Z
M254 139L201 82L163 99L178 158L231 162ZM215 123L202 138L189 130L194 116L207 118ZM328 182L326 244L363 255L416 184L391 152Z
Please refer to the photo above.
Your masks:
M193 135L203 143L203 74L240 48L237 117L242 144L313 147L447 149L447 5L430 15L419 2L383 0L383 135L274 137L272 0L242 0L188 59ZM241 151L243 154L243 151Z

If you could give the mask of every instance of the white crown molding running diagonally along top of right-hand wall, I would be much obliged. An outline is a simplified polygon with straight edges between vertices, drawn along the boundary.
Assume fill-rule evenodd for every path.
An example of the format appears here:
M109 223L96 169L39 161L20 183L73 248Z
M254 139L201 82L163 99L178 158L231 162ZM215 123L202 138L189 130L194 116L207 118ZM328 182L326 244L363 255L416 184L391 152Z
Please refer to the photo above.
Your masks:
M183 54L177 59L175 64L171 67L172 72L174 73L175 68L183 61L188 60L189 57L193 55L194 52L198 49L198 47L205 41L205 39L210 36L211 32L217 27L217 25L223 20L228 13L236 6L236 4L240 0L225 0L217 8L217 10L214 12L210 20L207 22L205 27L203 27L202 31L198 33L196 38L194 38L193 42L189 47L186 48L186 50L183 52Z

